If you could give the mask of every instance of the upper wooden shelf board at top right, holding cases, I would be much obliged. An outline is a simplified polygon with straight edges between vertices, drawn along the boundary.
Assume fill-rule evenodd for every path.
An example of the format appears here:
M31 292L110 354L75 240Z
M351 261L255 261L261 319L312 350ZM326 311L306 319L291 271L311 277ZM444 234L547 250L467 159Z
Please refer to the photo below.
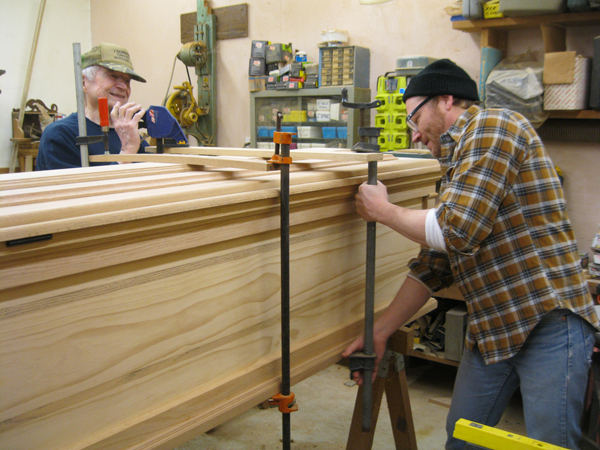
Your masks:
M600 24L600 11L582 13L545 14L543 16L503 17L501 19L458 20L452 22L455 30L473 33L482 30L518 30L541 25L589 26Z

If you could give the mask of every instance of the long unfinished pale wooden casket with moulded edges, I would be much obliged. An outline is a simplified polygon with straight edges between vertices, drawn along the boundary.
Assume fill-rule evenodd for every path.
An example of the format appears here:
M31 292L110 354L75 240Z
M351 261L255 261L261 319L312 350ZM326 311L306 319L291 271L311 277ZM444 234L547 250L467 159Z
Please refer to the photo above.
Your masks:
M428 206L437 161L392 159L392 201ZM292 171L292 384L362 332L366 177ZM280 392L278 172L140 163L0 188L0 449L173 448ZM417 252L377 227L377 311Z

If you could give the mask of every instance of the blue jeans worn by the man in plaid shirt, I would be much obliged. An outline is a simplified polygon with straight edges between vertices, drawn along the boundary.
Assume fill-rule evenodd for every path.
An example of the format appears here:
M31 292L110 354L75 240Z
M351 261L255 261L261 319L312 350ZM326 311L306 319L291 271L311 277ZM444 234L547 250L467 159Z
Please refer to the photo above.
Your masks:
M527 436L578 449L594 347L594 329L568 310L546 314L513 358L485 365L477 348L463 353L446 431L447 450L480 448L452 437L458 419L495 426L520 387Z

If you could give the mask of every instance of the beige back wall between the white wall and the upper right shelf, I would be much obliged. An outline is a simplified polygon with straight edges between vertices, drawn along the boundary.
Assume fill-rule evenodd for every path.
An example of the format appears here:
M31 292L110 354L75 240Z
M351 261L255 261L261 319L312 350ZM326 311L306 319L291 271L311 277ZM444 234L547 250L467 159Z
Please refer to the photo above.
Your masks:
M244 3L211 0L213 8ZM252 40L291 42L318 61L321 32L348 30L350 44L371 51L371 89L377 76L394 70L396 58L424 54L449 57L476 76L479 73L478 41L452 31L444 12L448 0L402 0L380 5L360 5L358 0L250 0L249 36L217 41L218 144L237 147L250 135L248 59ZM135 85L133 96L143 104L162 101L181 48L179 15L196 10L196 0L91 0L92 40L115 42L129 49L134 66L147 80ZM119 11L119 14L114 14ZM192 70L193 76L193 70ZM177 61L173 84L187 80ZM195 92L196 93L196 92Z

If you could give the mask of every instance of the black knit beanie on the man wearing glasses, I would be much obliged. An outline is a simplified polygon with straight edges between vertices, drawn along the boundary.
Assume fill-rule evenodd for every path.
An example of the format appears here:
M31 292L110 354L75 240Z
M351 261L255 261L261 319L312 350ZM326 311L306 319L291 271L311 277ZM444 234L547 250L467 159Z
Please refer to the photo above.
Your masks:
M435 95L452 95L465 100L479 100L477 84L469 74L449 59L434 61L413 76L403 101L411 97L429 97Z

